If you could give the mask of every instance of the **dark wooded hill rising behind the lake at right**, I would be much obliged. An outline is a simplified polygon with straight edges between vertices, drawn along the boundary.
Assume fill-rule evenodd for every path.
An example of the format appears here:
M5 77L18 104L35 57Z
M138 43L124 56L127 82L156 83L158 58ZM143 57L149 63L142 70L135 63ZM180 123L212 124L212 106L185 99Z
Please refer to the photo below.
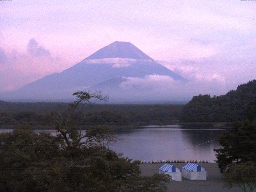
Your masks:
M182 109L182 122L236 122L244 118L245 108L256 99L256 80L237 87L226 95L194 96Z

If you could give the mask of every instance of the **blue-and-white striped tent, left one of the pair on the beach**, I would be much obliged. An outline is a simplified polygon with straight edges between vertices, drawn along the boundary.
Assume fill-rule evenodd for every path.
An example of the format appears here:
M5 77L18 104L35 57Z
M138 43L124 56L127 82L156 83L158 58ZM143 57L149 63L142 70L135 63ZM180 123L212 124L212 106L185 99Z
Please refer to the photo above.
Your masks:
M159 174L168 174L172 177L173 181L181 181L180 170L168 163L159 168Z

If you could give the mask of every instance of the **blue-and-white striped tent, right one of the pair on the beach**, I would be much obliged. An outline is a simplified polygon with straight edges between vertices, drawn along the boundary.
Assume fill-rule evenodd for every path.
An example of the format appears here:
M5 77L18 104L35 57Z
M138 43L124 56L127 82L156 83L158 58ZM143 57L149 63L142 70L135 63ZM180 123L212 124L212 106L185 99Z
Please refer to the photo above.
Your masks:
M207 172L202 166L195 163L188 163L182 167L182 177L190 180L206 180Z

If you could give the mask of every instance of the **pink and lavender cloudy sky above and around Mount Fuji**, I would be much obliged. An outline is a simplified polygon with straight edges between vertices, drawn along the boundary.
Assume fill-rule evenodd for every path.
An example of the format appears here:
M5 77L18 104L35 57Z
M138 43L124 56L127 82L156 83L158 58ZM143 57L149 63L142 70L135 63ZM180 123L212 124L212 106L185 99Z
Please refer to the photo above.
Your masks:
M0 1L0 92L118 40L191 81L218 81L223 94L256 78L255 10L240 0Z

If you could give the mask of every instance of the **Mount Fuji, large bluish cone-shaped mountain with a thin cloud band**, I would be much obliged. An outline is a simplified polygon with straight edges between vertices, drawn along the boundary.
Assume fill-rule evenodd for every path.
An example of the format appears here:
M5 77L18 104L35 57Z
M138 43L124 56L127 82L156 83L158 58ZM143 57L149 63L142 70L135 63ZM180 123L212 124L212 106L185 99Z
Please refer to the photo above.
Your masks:
M8 101L73 100L77 90L120 90L120 84L129 78L150 75L168 76L186 83L182 76L162 66L130 42L113 42L88 56L74 66L47 75L18 90L0 95ZM108 94L108 92L106 94Z

